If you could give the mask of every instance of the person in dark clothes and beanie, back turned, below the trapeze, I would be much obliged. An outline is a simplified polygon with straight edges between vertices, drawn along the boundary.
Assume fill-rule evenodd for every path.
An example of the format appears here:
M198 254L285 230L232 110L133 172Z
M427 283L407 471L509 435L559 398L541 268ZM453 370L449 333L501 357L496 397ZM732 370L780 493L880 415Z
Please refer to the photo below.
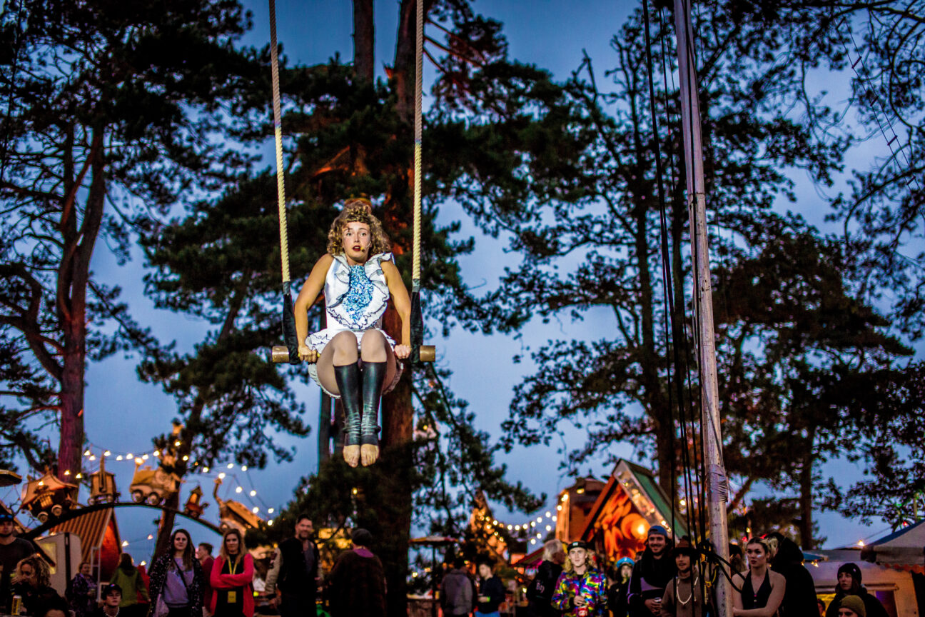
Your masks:
M385 617L386 573L370 548L373 535L365 529L351 533L351 550L338 555L328 575L332 617Z

